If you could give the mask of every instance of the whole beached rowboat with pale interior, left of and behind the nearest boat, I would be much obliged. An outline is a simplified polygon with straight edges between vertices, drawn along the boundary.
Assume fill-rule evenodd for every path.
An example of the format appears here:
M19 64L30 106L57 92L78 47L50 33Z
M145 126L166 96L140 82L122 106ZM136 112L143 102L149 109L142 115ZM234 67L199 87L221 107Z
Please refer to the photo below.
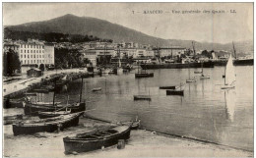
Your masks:
M13 132L14 135L19 135L32 134L34 132L55 132L57 130L63 130L77 126L79 123L79 117L83 113L84 112L79 112L48 119L21 121L17 124L13 124Z

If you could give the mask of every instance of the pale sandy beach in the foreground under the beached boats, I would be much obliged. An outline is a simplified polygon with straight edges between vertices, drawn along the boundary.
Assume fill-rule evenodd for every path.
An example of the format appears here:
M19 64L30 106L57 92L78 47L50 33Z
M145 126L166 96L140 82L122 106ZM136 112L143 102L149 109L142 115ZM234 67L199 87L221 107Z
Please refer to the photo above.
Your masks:
M5 157L252 157L253 152L241 151L212 143L198 142L145 130L131 131L124 149L117 145L84 153L64 154L63 137L90 132L109 126L87 118L80 118L78 127L63 132L37 132L14 136L11 126L4 126ZM32 143L31 143L32 142ZM25 149L27 152L24 152ZM48 152L50 149L50 152ZM41 152L37 152L40 150Z

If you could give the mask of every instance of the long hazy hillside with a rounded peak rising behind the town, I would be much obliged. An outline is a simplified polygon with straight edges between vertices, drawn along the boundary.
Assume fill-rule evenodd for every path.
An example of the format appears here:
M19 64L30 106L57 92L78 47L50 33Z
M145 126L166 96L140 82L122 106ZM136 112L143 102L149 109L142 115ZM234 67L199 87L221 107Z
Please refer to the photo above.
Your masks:
M181 46L191 48L191 40L162 39L140 31L89 17L65 15L48 21L32 22L19 26L5 26L9 30L31 31L37 33L57 32L64 34L94 35L114 42L137 42L154 46ZM230 39L231 40L231 39ZM237 53L253 53L253 41L234 42ZM196 50L232 51L232 44L195 42Z

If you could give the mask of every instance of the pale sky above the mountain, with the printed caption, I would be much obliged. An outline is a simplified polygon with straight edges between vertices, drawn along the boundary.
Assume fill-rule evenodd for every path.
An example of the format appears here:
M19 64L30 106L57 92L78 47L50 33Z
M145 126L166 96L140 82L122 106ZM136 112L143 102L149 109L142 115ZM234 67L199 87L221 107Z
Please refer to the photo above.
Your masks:
M106 20L163 39L218 43L253 39L253 3L3 3L4 26L66 14Z

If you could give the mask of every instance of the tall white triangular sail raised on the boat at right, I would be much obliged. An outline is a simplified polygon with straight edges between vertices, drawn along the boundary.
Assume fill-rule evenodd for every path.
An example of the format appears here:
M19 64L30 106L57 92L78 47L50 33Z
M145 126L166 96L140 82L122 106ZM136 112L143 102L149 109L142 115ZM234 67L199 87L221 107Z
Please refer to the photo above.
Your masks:
M230 85L232 82L235 81L235 74L234 74L234 67L233 67L233 60L232 56L229 56L229 59L225 66L225 78L224 78L224 84Z

